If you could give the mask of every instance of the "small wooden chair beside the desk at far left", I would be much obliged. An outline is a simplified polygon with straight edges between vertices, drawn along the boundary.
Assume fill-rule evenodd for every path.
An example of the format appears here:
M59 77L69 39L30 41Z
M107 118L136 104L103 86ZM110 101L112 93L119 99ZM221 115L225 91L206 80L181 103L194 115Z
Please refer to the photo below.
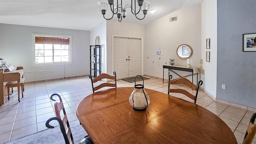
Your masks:
M16 68L16 70L23 70L22 66L18 66ZM20 78L20 76L17 76L17 79L20 79L20 87L21 87L21 94L22 94L22 98L23 98L23 92L24 92L24 82L25 82L25 78L22 77ZM10 100L10 88L12 88L12 93L13 93L13 87L18 87L18 81L10 81L7 83L7 91L8 91L8 100ZM18 88L18 101L20 102L20 88Z

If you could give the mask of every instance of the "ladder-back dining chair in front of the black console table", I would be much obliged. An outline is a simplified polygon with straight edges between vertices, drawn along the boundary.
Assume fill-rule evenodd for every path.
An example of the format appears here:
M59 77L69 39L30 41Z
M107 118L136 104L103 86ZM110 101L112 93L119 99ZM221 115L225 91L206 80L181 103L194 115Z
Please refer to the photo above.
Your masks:
M192 82L190 82L190 80L188 80L186 78L177 78L175 80L171 80L171 79L172 79L172 75L169 76L168 94L169 94L169 92L184 94L184 95L188 96L189 98L191 98L192 100L194 100L194 103L196 104L198 90L199 90L199 87L202 86L203 81L200 80L198 82L198 85L196 86ZM170 88L170 84L184 84L184 85L188 86L189 88L192 88L192 90L196 90L196 95L194 96L193 94L191 94L187 90L183 90L183 89L179 89L179 88L177 88L177 89Z

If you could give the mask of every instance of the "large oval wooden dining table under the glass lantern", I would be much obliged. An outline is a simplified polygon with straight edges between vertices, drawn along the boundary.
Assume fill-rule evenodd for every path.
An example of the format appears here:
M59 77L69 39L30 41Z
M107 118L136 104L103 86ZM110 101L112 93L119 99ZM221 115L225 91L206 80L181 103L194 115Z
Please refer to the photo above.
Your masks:
M145 89L146 111L133 110L134 88L111 88L90 94L76 115L94 144L237 144L218 116L192 102Z

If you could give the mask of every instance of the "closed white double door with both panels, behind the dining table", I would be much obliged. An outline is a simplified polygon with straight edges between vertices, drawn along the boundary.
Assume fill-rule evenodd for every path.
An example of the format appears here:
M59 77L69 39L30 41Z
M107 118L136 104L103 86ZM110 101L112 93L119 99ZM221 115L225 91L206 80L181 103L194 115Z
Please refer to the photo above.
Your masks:
M141 39L114 37L114 71L116 78L141 75Z

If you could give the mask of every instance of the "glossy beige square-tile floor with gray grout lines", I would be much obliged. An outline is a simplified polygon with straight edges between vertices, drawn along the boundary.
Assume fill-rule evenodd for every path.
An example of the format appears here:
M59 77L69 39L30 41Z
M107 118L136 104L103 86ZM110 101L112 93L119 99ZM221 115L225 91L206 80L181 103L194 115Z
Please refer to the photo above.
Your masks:
M150 78L150 80L145 80L144 84L145 88L168 92L168 82L162 83L162 79ZM117 81L117 87L133 86L134 83ZM188 88L181 85L174 87ZM14 89L10 100L0 107L0 144L46 129L46 120L55 116L54 102L49 98L54 93L62 96L68 120L77 120L77 104L92 94L90 79L84 76L25 84L24 98L20 103L17 89ZM192 101L182 94L172 93L171 95ZM234 132L238 143L242 143L250 117L254 112L216 102L202 90L199 92L196 104L219 116ZM253 144L256 144L256 136Z

